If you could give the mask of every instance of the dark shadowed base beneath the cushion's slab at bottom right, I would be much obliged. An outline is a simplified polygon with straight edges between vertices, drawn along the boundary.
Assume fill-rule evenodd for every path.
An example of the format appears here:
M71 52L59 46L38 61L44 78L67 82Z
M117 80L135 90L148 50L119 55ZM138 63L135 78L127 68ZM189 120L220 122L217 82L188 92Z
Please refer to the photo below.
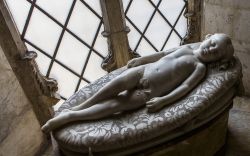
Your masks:
M229 110L202 127L136 155L138 156L214 156L225 144Z

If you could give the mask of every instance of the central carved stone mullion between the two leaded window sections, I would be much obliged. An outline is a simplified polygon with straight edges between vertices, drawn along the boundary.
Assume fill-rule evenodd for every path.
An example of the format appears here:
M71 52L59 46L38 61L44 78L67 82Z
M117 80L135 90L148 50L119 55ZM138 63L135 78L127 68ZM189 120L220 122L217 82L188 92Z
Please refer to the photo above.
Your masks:
M102 68L108 72L127 64L134 56L128 43L127 33L130 31L126 26L122 0L100 0L104 32L107 37L109 55L105 58Z

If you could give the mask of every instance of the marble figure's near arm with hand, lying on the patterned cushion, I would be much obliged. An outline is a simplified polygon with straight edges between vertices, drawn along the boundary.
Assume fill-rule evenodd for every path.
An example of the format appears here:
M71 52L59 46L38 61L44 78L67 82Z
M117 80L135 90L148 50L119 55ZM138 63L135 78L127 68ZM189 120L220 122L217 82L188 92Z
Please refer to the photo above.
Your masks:
M155 112L191 91L205 76L206 66L198 63L195 71L179 87L162 97L152 98L146 103L149 112Z

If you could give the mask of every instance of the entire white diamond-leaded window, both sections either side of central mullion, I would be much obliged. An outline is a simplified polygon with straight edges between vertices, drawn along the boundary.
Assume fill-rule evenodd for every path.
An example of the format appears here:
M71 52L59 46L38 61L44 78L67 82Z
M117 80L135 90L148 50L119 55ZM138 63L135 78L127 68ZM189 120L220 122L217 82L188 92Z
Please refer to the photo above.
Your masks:
M108 55L99 0L6 0L21 38L42 74L58 81L67 99L106 74ZM184 0L123 0L128 39L141 56L178 46L186 34Z

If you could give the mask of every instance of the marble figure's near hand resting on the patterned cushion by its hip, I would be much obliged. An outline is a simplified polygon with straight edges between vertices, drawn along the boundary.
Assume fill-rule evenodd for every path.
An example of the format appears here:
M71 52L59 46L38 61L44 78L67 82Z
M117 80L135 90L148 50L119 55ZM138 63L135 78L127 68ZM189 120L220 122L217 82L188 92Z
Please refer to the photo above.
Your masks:
M146 102L148 112L159 111L165 104L165 101L161 97L155 97Z

